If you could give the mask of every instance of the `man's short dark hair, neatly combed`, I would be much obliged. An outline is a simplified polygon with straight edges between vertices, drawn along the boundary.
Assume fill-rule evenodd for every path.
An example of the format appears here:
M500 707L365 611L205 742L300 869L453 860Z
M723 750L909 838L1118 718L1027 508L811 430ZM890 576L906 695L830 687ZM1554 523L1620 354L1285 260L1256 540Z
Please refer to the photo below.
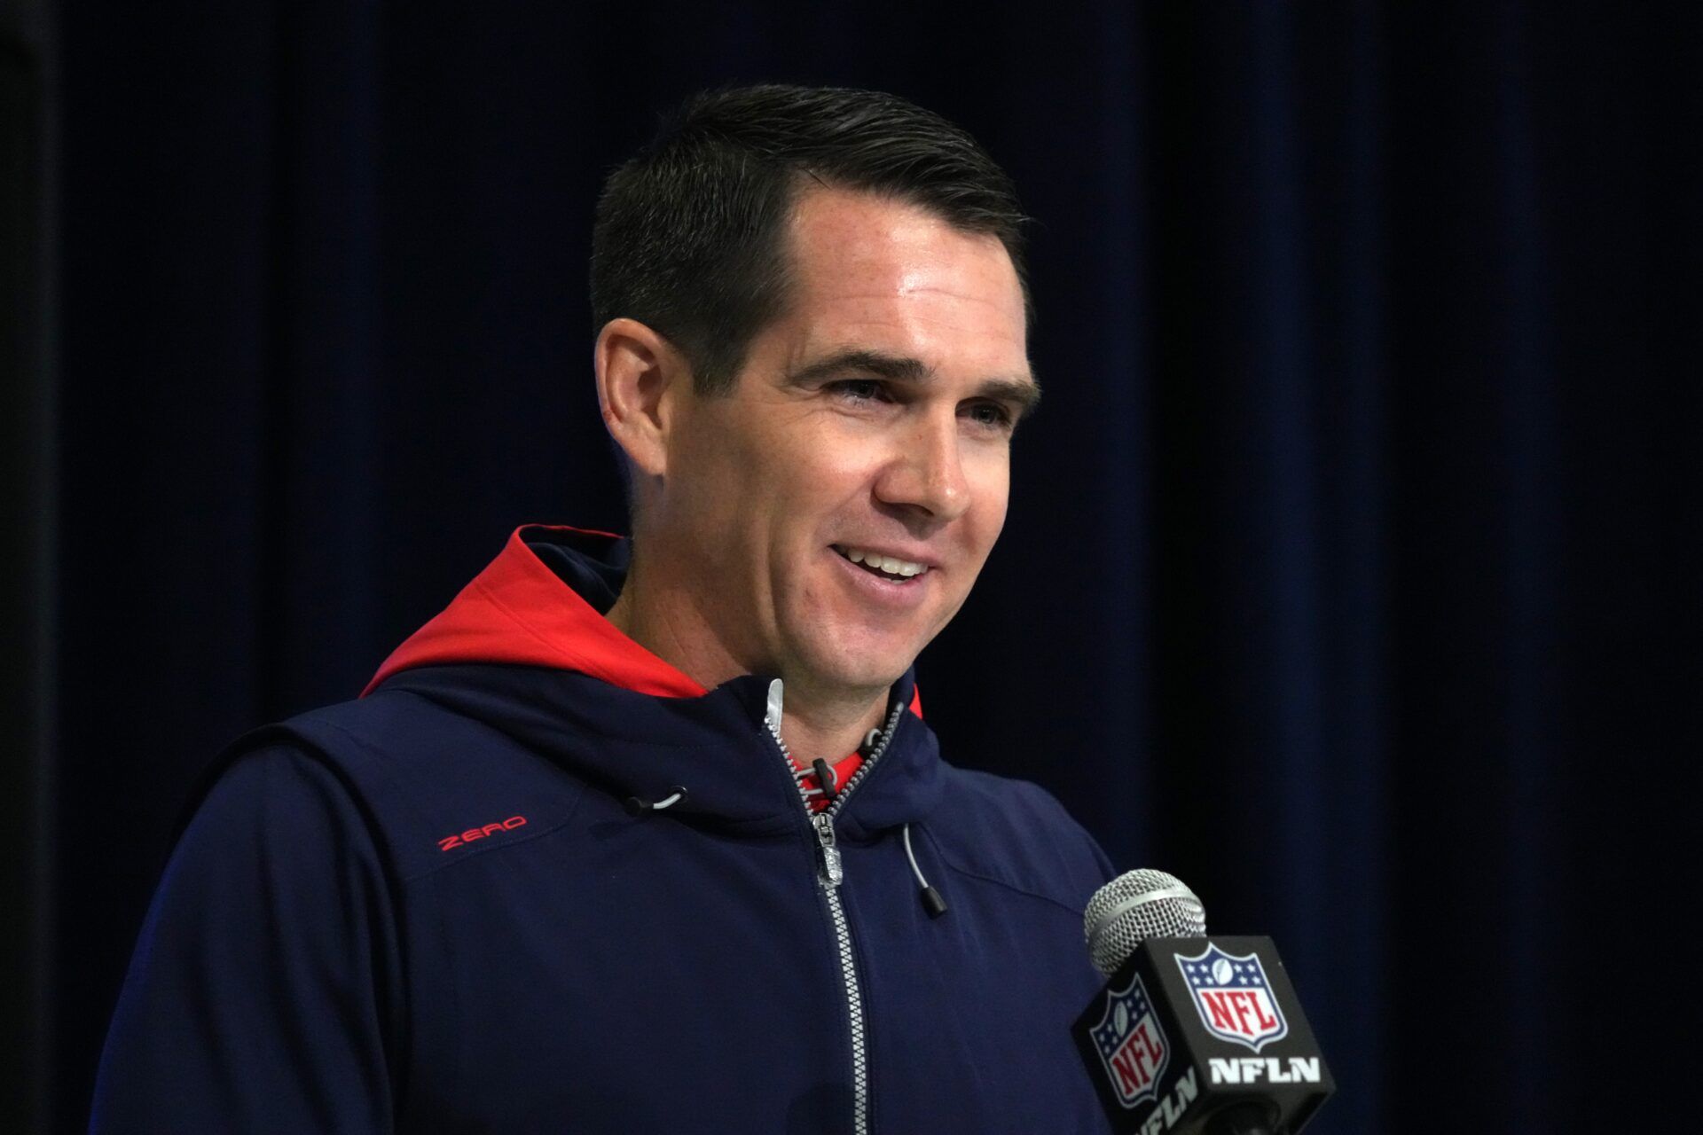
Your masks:
M751 339L785 306L785 226L811 182L998 237L1027 308L1027 218L969 133L877 90L761 85L688 99L610 175L591 235L593 334L639 320L681 351L700 393L731 391Z

